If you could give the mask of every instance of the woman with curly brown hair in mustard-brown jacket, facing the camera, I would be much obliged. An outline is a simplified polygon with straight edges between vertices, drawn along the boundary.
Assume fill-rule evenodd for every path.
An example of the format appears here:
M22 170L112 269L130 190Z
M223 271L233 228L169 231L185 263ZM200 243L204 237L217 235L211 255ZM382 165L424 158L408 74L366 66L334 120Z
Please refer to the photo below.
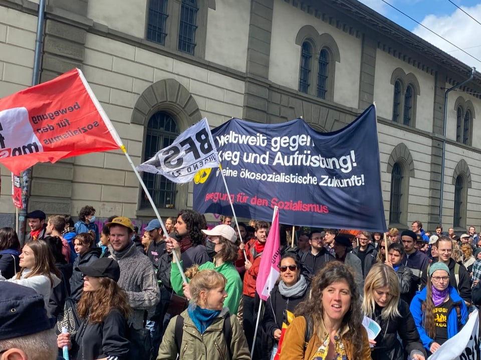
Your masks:
M359 289L349 266L328 262L314 277L311 295L298 305L295 315L280 360L371 359Z

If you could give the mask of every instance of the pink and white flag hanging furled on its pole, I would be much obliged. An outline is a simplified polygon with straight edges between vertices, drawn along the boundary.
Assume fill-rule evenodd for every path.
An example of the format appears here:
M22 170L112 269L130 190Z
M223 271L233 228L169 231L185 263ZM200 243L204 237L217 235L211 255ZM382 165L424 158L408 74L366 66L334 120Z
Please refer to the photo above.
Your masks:
M279 208L275 206L272 226L267 236L266 247L264 247L262 253L259 275L256 281L257 293L263 300L267 300L279 277L279 263L281 262L280 246Z

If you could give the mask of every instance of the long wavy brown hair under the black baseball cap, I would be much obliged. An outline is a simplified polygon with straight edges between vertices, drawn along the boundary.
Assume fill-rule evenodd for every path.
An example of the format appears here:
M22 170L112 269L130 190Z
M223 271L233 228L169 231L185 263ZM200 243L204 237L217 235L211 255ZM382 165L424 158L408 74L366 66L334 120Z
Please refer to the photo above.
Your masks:
M100 288L97 291L84 291L77 305L81 318L90 315L90 323L100 323L105 320L112 308L120 310L125 318L131 308L126 292L110 277L98 277Z

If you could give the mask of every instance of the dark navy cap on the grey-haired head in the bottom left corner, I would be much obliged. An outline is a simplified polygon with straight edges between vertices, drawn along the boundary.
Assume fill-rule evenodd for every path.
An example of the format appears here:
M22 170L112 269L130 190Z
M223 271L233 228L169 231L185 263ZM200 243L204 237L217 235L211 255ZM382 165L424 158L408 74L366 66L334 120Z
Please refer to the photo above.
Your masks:
M52 328L45 301L31 287L0 281L0 340Z

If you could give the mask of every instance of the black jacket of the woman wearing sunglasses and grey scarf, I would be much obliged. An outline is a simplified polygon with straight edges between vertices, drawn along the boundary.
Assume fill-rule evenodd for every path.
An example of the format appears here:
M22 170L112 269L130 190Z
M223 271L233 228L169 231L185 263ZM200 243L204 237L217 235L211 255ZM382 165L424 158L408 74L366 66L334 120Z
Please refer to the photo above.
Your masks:
M309 291L310 287L308 286L302 295L286 297L281 294L278 285L274 286L266 301L266 309L262 319L264 330L269 336L274 338L274 331L282 329L284 309L294 312L297 304L303 301L306 296L309 296Z

